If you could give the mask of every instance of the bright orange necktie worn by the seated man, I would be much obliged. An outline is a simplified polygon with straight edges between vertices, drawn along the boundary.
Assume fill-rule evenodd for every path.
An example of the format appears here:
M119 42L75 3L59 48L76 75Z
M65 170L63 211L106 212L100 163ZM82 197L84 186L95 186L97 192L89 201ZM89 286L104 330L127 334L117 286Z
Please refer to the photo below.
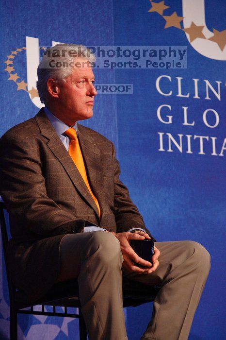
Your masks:
M89 181L87 178L86 170L85 170L85 164L83 161L80 145L79 145L79 139L77 137L76 130L74 128L69 128L67 131L65 131L65 134L70 137L70 144L69 144L69 155L73 159L73 162L75 163L77 169L79 170L81 177L83 178L83 181L85 182L87 188L89 189L89 192L91 196L94 199L94 202L97 205L99 216L100 216L100 207L97 201L97 198L94 196L91 187L89 185Z

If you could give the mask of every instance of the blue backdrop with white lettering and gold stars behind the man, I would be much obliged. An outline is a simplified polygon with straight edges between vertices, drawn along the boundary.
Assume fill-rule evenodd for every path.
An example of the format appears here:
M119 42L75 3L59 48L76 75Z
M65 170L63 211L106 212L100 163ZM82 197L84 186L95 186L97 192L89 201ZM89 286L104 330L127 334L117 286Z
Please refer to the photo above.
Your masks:
M195 2L196 19L203 2ZM82 123L115 143L121 179L129 187L131 198L155 238L158 241L192 239L210 252L210 276L189 339L224 339L226 80L221 54L224 36L219 39L214 31L213 40L216 38L217 44L211 41L208 33L205 37L199 31L197 44L195 39L193 44L189 41L191 36L186 37L182 29L175 27L176 21L174 26L164 28L173 12L184 20L189 17L185 12L186 0L183 0L183 9L182 1L165 1L165 5L169 8L161 14L161 10L160 13L154 11L155 5L149 0L2 3L0 135L38 111L23 84L23 81L27 83L26 50L19 50L26 47L26 36L38 38L42 46L50 46L52 41L86 46L187 46L188 68L96 69L98 84L133 84L133 95L97 96L94 117ZM153 10L148 12L151 8ZM225 1L205 1L205 13L211 32L213 28L218 32L225 30ZM195 18L192 21L195 22ZM185 24L186 21L184 26L180 21L179 26L190 27ZM200 25L198 21L196 25ZM209 43L212 45L205 54L201 47ZM12 53L14 51L17 53ZM216 51L221 57L208 57L210 51ZM13 63L7 65L4 63L7 60ZM19 78L12 77L15 74ZM160 76L163 77L158 90L156 81ZM162 121L157 117L161 105L168 105L161 109ZM205 116L206 110L210 111ZM172 116L172 123L166 123L169 122L167 115ZM0 272L0 339L9 339L4 266L0 267ZM129 339L139 339L150 319L151 309L151 304L125 309ZM79 339L78 323L66 318L19 318L19 339L40 338Z

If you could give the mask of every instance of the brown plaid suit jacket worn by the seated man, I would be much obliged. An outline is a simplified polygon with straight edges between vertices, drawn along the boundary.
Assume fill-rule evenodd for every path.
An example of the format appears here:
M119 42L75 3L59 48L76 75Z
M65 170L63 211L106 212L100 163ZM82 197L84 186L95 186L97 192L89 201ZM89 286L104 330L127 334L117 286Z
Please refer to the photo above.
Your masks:
M0 139L0 194L10 213L12 235L10 271L16 287L31 300L41 297L58 278L59 245L65 234L80 233L87 224L114 232L145 229L128 189L119 180L113 143L80 124L78 136L100 218L43 109Z

